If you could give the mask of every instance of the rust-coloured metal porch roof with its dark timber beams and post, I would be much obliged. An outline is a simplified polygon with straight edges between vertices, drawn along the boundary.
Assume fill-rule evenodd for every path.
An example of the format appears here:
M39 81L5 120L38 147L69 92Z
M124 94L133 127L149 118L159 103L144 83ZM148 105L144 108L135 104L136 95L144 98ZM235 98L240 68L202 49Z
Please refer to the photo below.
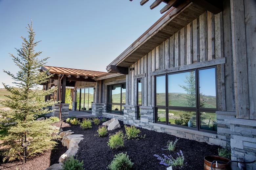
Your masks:
M106 72L73 69L54 66L42 66L40 70L47 71L48 75L53 75L45 84L45 90L57 86L57 101L65 103L66 87L75 87L76 81L82 82L96 82L95 78ZM50 99L50 96L45 96L45 101Z

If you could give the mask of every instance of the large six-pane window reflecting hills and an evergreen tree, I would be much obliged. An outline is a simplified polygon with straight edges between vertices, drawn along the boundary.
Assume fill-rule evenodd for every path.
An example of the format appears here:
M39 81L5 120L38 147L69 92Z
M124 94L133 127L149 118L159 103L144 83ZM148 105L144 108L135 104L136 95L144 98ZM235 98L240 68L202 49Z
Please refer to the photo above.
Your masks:
M216 66L156 76L155 122L216 133L216 85Z

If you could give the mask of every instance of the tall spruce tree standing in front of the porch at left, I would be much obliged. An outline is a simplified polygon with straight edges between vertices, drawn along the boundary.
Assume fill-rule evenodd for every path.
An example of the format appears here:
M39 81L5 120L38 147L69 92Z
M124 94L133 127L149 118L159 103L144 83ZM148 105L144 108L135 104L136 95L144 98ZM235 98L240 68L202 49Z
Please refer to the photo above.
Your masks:
M2 152L4 161L22 160L24 154L25 132L27 133L27 157L32 157L45 150L51 149L56 142L51 137L53 127L49 120L36 121L37 115L49 113L44 109L46 106L54 104L53 100L44 101L45 95L53 93L55 89L42 90L39 84L45 83L50 76L48 71L40 72L41 66L46 64L48 58L39 59L41 51L35 52L35 32L31 25L28 29L28 40L21 37L23 42L20 49L16 49L18 57L10 54L15 65L18 66L18 73L11 74L5 71L14 79L16 87L11 87L3 83L5 89L11 92L8 99L1 101L1 104L11 110L0 110L0 139L3 141L0 147L4 147Z

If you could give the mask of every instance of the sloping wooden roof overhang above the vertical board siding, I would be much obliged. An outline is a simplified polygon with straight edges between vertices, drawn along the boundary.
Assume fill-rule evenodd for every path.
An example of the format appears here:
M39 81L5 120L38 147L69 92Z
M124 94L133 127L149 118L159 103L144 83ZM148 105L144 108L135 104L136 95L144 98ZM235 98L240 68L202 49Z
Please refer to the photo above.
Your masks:
M198 18L206 9L198 3L189 0L180 4L177 8L171 8L144 34L124 50L106 68L108 72L115 72L112 65L129 67L155 47L170 38L185 25Z

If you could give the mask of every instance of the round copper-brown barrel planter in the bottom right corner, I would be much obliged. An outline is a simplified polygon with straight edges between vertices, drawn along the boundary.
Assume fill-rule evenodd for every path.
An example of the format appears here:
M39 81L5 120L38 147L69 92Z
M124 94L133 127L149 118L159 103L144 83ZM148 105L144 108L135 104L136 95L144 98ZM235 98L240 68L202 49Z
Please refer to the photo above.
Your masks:
M212 161L222 161L222 162L226 162L226 163L219 163L218 162L218 167L216 167L216 162L214 162L212 164ZM224 157L220 157L220 156L216 156L216 155L209 155L209 156L205 156L204 157L204 170L211 170L211 164L212 164L212 169L213 170L230 170L230 163L227 164L227 162L229 162L230 160Z

